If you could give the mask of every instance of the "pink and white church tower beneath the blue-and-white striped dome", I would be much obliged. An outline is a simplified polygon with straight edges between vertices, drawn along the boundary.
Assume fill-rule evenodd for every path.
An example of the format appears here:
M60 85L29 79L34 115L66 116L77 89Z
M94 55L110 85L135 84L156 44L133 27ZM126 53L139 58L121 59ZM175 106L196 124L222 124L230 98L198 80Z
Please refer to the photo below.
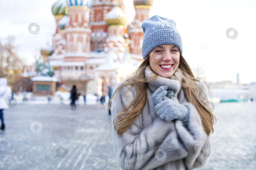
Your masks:
M66 0L69 7L69 25L65 28L64 61L86 61L91 52L89 11L93 0Z

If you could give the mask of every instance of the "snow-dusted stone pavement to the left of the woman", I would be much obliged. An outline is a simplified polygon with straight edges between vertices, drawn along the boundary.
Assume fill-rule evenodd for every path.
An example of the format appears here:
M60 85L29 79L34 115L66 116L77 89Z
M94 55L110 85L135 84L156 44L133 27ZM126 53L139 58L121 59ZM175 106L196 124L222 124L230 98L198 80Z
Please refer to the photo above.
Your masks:
M0 169L120 169L104 105L17 105L4 116Z

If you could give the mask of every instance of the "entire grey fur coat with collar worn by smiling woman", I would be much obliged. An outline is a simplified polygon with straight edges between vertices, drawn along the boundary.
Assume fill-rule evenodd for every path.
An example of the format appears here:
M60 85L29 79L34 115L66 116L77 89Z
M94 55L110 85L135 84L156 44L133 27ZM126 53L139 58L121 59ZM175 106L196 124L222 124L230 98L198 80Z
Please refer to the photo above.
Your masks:
M181 80L178 70L174 74ZM149 74L154 73L151 69L146 69L145 76ZM146 105L122 137L119 137L112 127L114 149L122 169L186 170L201 167L207 162L210 155L209 136L204 132L196 108L188 103L180 81L174 76L171 78L173 80L158 76L147 83ZM115 86L114 91L121 83ZM166 122L157 116L151 96L163 85L174 90L174 101L189 109L189 122L186 127L181 121ZM198 85L203 88L208 98L204 83L198 82ZM120 88L113 96L115 105L112 105L112 121L136 96L136 88L125 92L128 88ZM199 89L197 92L202 99Z

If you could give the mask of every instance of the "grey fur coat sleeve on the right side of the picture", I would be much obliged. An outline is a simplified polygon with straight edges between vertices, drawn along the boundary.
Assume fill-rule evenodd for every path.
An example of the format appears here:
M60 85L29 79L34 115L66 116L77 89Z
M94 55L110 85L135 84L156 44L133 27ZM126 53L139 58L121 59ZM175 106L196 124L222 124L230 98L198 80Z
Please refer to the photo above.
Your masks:
M204 102L207 102L208 90L205 87L204 83L197 82L197 84L204 90L197 88L198 96ZM175 127L177 133L180 137L180 140L184 144L188 155L184 159L185 165L188 169L193 169L196 167L203 166L210 156L210 137L206 135L204 127L201 122L201 118L198 115L196 108L186 102L183 103L189 109L189 122L187 128L182 125L182 122L176 121Z

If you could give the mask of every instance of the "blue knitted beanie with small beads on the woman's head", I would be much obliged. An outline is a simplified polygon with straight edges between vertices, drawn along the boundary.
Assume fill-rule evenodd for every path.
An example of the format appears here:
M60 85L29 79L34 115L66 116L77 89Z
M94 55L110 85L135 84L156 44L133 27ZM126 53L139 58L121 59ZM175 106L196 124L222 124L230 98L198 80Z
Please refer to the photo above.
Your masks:
M142 23L144 32L142 44L143 59L156 47L164 44L172 44L179 48L182 54L182 41L174 20L168 20L158 15L145 20Z

